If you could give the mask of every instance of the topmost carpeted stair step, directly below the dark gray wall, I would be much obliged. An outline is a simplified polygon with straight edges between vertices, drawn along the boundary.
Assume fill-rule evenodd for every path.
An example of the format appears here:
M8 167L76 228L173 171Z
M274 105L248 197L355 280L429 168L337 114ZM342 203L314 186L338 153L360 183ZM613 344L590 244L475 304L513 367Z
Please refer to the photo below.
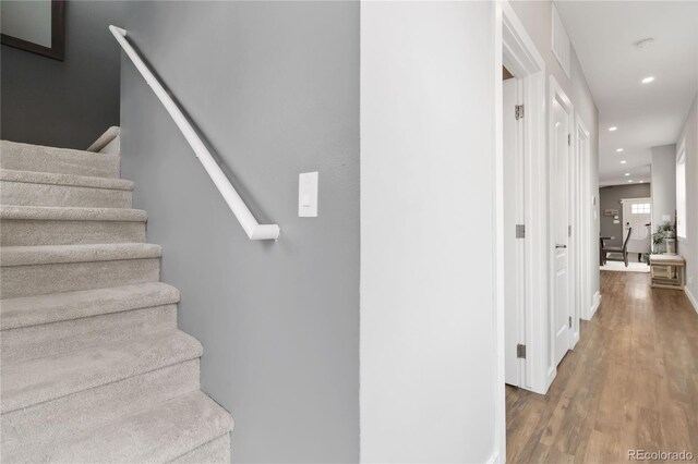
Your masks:
M117 155L1 141L0 168L15 171L118 178L120 158Z

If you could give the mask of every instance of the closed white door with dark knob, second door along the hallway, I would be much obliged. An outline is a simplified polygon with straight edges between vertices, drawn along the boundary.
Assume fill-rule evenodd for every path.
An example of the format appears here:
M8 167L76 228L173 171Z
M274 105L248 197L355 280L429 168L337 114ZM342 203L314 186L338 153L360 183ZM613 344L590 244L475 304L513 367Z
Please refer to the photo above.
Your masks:
M553 281L553 355L557 365L567 353L570 343L570 301L569 301L569 114L557 98L551 107L551 179L554 248Z

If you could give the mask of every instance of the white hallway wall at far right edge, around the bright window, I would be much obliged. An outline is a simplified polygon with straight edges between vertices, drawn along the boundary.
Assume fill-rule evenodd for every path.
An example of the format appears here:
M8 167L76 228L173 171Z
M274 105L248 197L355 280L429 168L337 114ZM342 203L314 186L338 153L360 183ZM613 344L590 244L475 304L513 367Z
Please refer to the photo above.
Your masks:
M698 96L694 99L676 148L686 144L686 240L678 243L678 253L686 259L686 290L698 305ZM698 310L698 306L696 307Z

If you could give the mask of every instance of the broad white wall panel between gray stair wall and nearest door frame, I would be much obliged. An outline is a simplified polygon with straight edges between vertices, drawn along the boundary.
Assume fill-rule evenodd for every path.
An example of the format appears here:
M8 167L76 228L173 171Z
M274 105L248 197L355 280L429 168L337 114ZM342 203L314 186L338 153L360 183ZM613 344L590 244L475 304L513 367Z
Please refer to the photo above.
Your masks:
M361 461L494 452L493 12L361 5Z

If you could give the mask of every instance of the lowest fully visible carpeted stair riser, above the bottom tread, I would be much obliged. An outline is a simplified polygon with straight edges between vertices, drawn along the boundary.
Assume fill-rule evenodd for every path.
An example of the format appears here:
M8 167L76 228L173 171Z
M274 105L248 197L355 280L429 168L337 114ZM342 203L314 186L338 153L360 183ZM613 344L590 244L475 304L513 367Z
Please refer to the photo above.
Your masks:
M0 416L2 461L31 460L45 445L198 390L198 359L93 388Z

